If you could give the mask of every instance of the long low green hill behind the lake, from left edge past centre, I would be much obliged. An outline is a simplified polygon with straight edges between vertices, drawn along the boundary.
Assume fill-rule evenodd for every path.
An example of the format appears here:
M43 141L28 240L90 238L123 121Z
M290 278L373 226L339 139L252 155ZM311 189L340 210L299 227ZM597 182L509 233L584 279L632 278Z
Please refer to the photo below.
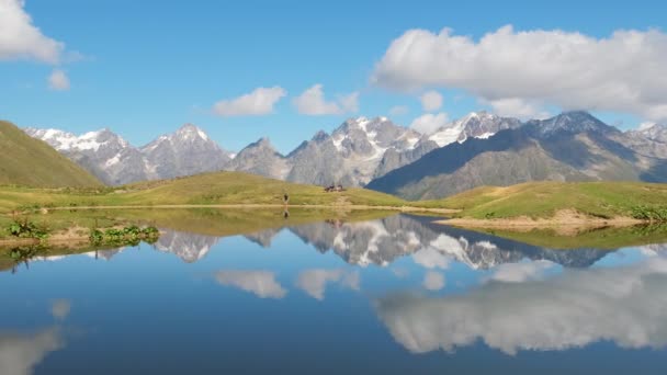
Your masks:
M0 212L29 206L152 205L369 205L403 206L406 202L364 189L326 193L320 186L295 184L241 172L215 172L176 180L102 189L0 189Z

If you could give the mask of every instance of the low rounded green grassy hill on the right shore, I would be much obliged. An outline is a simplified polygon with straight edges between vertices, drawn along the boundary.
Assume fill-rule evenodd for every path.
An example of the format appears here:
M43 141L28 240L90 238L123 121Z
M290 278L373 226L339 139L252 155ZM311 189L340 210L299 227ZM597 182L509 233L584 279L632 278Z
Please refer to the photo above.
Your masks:
M667 209L667 184L529 182L508 188L477 188L430 204L461 209L457 217L479 219L549 218L562 209L600 218L631 217L642 206Z

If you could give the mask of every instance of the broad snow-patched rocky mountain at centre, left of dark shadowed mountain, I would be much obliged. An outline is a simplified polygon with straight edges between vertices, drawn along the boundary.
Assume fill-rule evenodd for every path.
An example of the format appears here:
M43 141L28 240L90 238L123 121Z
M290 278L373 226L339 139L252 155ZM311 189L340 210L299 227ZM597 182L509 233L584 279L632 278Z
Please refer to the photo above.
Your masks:
M386 117L358 117L342 123L331 135L319 132L287 157L289 181L364 185L374 175L388 150L404 152L419 143L421 135L398 126Z

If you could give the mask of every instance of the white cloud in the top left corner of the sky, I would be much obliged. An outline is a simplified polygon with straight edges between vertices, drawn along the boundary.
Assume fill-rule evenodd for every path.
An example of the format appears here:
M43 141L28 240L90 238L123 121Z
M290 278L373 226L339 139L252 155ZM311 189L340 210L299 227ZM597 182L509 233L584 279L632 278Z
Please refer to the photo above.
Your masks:
M0 0L0 60L57 64L65 45L42 34L23 9L24 4L23 0Z

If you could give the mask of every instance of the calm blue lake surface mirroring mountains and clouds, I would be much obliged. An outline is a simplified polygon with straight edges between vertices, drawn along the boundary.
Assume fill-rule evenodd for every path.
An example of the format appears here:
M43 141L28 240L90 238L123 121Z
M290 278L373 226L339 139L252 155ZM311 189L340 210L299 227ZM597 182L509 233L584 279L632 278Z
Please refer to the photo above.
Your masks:
M563 251L398 215L166 230L0 285L2 375L667 373L667 245Z

